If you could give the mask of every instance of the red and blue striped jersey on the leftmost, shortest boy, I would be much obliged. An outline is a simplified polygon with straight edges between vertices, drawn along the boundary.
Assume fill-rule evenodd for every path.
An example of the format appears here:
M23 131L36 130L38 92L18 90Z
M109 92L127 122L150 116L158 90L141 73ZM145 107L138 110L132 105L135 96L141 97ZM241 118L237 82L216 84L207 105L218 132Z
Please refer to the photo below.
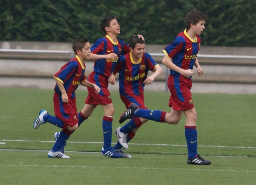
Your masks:
M76 96L75 90L86 79L85 63L82 63L76 56L62 66L53 77L63 84L68 97L74 98ZM55 85L54 91L61 94L57 85Z

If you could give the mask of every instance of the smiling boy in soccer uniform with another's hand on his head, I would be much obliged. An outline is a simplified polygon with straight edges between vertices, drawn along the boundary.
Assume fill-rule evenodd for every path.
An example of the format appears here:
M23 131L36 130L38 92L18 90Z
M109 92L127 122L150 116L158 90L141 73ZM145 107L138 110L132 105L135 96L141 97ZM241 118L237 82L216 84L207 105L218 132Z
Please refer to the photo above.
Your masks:
M144 86L150 85L161 74L162 68L148 53L145 53L145 42L138 36L133 36L130 39L129 49L129 53L119 58L120 63L114 70L114 75L119 73L120 97L127 108L131 102L134 102L139 108L147 109L144 104ZM149 70L154 73L147 77ZM125 126L117 128L115 134L121 142L124 140L124 137L129 142L135 136L138 128L146 121L148 119L135 117ZM125 144L124 148L128 149L127 143L123 144ZM113 148L121 153L124 158L131 158L130 155L123 151L120 142L117 142Z

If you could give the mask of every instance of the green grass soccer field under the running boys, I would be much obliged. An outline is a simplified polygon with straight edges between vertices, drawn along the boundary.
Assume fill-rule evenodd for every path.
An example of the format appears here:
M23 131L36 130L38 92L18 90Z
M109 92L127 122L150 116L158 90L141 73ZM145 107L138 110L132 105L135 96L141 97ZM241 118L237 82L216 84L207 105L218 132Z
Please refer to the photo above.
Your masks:
M125 110L118 92L112 92L114 130ZM255 95L193 94L198 118L198 152L210 166L187 165L184 116L178 125L148 121L126 150L131 159L100 154L103 145L99 106L70 137L71 159L50 159L53 134L47 123L34 130L40 109L51 114L53 90L0 88L0 185L254 185L256 182ZM77 91L78 110L87 91ZM169 111L169 93L146 92L149 109Z

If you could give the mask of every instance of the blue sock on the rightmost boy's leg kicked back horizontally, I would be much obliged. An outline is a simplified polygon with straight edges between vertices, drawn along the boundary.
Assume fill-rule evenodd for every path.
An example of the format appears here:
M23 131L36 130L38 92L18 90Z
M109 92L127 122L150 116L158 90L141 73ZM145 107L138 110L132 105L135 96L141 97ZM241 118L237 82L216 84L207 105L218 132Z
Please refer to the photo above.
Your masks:
M157 121L157 122L165 122L165 111L160 110L147 110L147 109L137 109L134 111L134 116L142 117L145 119Z

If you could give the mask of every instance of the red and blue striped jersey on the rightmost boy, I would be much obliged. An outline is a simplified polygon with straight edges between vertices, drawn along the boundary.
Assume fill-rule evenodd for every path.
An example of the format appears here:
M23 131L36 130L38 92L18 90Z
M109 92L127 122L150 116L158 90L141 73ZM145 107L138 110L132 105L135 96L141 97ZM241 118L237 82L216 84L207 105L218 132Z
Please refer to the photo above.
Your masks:
M201 37L199 35L196 35L196 40L192 40L185 30L180 32L174 42L163 49L163 52L172 59L173 64L176 66L185 70L193 69L200 44ZM170 70L170 74L173 76L182 76L173 70Z

